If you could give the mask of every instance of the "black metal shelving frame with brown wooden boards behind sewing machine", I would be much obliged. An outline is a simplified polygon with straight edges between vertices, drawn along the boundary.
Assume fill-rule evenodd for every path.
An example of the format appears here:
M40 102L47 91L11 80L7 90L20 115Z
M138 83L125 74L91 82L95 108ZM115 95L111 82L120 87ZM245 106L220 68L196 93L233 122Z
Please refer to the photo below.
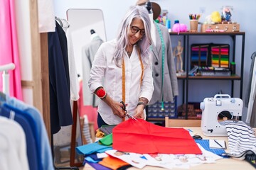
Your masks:
M244 57L245 57L245 32L225 32L225 33L192 33L192 32L182 32L182 33L174 33L171 32L169 33L170 36L180 36L183 38L183 49L184 49L184 56L183 56L183 63L184 63L184 67L183 70L186 70L185 73L181 76L177 76L177 79L179 79L180 81L182 81L182 88L183 88L183 93L182 93L182 102L186 105L186 116L184 116L184 119L195 119L194 117L190 117L188 115L188 91L189 91L189 86L191 86L191 84L188 84L188 81L196 81L196 80L219 80L219 81L230 81L230 96L234 96L234 84L235 81L240 81L240 91L236 93L239 93L240 98L242 98L242 86L243 86L243 69L244 69ZM190 62L191 62L191 44L193 44L193 40L198 39L198 36L205 36L202 37L203 41L206 42L211 42L211 38L212 37L217 37L216 39L221 40L221 38L226 38L226 37L222 37L222 36L227 36L230 37L230 45L231 45L231 51L232 51L232 55L229 56L229 60L230 61L236 61L239 62L239 69L236 70L236 72L238 74L232 75L232 76L190 76L188 75L188 71L190 70ZM239 35L239 36L238 36ZM236 45L237 45L237 37L240 37L238 40L240 43L238 43L238 45L240 46L240 50L241 53L238 54L235 50ZM209 40L208 40L209 38ZM193 85L193 84L192 84ZM183 104L182 103L182 104ZM198 118L198 117L196 117Z

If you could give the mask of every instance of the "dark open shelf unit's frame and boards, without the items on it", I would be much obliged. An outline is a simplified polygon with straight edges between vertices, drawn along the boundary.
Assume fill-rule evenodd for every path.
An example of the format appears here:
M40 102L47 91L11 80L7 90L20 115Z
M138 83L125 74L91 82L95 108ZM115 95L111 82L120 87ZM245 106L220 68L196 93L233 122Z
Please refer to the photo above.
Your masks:
M214 38L221 38L221 36L230 36L233 41L233 48L230 48L230 50L233 50L232 56L230 56L230 59L235 61L235 47L237 42L237 37L242 37L241 39L241 54L237 57L240 57L240 72L239 74L232 75L230 77L213 77L213 76L189 76L189 64L190 64L190 45L191 45L191 39L193 37L213 37ZM242 81L243 81L243 67L244 67L244 54L245 54L245 32L232 32L232 33L170 33L170 36L183 36L183 63L186 70L186 75L177 77L178 79L183 80L183 94L182 94L182 101L186 104L186 116L185 119L188 119L188 82L189 80L229 80L231 81L231 96L234 94L234 81L240 81L240 98L242 98ZM192 37L192 38L191 38ZM238 73L238 71L237 71Z

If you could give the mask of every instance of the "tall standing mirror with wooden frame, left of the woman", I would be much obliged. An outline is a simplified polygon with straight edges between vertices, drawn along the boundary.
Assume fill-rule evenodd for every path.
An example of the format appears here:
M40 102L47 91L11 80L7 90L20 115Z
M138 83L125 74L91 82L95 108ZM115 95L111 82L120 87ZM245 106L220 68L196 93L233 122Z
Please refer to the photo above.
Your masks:
M85 120L84 115L87 117L87 126L92 136L92 142L95 140L95 130L97 129L97 108L93 107L95 105L95 100L89 87L87 86L87 81L90 75L91 60L85 60L85 49L95 40L95 35L100 38L102 42L106 41L105 34L105 22L103 18L103 13L100 9L82 9L82 8L70 8L67 11L67 20L70 25L70 35L73 41L73 50L75 57L75 65L78 74L80 75L80 99L74 101L73 103L73 126L72 126L72 137L71 137L71 147L70 147L70 166L80 166L80 162L75 162L75 147L87 144L85 140ZM93 31L94 32L93 32ZM95 47L95 45L94 45ZM93 52L92 52L93 53ZM83 83L82 83L83 82ZM81 88L82 91L81 92ZM88 100L88 98L92 100ZM77 126L80 125L80 126ZM78 139L77 128L80 128L81 138Z

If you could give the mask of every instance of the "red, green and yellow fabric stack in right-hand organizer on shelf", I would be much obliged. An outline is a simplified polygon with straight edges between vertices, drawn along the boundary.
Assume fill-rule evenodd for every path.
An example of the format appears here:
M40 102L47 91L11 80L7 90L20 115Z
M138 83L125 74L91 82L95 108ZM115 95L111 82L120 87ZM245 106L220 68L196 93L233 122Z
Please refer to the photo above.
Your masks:
M229 64L229 47L228 45L212 47L212 67L228 68Z

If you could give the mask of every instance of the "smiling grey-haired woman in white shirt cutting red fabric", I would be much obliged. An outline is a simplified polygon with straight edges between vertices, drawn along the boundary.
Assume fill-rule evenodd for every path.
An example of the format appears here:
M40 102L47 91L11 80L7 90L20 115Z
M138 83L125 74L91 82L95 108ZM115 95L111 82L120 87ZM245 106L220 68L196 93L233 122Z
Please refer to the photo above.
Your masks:
M144 107L154 91L150 45L149 13L142 6L131 6L117 38L104 42L92 63L88 84L90 91L101 98L99 127L117 125L128 118L127 113L145 119Z

